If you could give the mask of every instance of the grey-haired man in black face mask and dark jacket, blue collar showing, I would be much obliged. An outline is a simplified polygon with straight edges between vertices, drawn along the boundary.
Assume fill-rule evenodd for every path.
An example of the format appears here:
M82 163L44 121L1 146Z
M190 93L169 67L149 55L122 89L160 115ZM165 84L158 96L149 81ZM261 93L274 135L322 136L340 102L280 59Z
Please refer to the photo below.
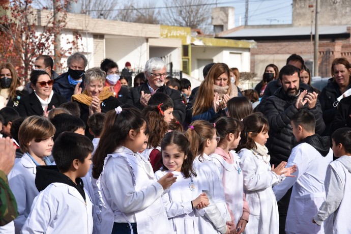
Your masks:
M84 72L87 65L86 57L77 52L67 59L68 72L61 74L52 85L53 92L71 101L73 94L80 94L84 90Z

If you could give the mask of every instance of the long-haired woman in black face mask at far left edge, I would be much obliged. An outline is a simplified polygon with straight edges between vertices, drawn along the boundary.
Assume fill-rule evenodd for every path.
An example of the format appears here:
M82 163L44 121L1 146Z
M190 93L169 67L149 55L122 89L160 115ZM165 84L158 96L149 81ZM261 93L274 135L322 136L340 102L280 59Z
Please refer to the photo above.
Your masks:
M28 95L12 64L0 65L0 109L5 106L17 109L21 97Z

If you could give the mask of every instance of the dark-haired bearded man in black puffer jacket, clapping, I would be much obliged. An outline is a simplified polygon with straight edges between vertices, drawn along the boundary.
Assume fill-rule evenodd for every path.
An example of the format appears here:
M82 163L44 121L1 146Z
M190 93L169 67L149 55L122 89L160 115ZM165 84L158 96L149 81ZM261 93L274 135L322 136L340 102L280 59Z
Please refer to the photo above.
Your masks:
M267 148L271 155L271 164L278 165L287 161L291 150L298 144L293 135L290 119L300 109L308 109L316 120L315 133L325 129L323 113L317 99L318 94L307 87L300 87L300 70L293 65L284 66L279 72L282 86L267 98L264 113L270 125ZM290 199L290 192L278 202L279 233L285 233L285 217Z

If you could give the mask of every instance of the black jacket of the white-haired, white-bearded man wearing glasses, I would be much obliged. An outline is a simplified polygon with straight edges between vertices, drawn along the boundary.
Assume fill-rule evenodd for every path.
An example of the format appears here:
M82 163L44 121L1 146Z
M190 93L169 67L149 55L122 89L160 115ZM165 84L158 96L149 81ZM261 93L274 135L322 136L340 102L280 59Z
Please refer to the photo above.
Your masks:
M144 94L150 94L148 83L144 83L143 85L140 85L132 89L130 91L130 96L128 97L129 100L133 102L133 105L138 107L140 110L144 108L144 106L140 104L141 91L144 91ZM181 93L178 90L170 89L166 85L159 87L157 92L162 92L164 94L167 94L173 100L173 103L174 103L173 116L180 123L183 123L185 120L185 105L183 103Z

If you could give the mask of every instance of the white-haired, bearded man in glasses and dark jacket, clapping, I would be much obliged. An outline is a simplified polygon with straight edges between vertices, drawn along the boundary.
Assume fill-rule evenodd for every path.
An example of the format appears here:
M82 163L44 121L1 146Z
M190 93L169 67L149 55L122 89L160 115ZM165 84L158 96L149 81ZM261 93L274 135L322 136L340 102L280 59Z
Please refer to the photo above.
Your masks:
M150 58L145 65L145 78L148 82L132 89L128 98L132 100L136 107L142 110L148 105L151 95L156 92L163 92L174 102L173 116L180 123L183 123L185 119L185 105L179 91L172 90L164 85L164 79L167 75L166 65L161 58Z

